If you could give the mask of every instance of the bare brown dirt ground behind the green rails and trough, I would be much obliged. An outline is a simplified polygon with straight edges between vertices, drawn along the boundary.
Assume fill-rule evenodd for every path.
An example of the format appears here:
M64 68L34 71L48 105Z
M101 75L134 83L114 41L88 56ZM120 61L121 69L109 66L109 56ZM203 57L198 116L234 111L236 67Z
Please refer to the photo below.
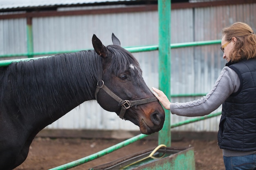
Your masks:
M124 140L117 139L50 139L37 137L31 144L25 162L15 170L48 170L97 153ZM91 167L158 146L157 140L141 139L72 170L88 170ZM172 141L172 147L194 147L196 170L225 170L222 150L217 141L186 140Z

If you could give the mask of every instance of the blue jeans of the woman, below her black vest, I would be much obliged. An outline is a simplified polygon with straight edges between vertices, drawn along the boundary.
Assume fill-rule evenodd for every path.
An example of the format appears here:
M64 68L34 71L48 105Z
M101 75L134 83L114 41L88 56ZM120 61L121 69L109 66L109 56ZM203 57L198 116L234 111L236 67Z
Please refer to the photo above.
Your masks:
M256 154L240 157L223 156L226 170L256 170Z

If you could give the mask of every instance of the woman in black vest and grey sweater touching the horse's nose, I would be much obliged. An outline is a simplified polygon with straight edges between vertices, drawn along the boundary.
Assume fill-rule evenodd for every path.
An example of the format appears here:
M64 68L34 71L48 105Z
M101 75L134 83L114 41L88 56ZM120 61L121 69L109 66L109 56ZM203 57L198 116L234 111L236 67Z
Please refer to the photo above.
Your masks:
M221 44L227 64L206 96L171 103L157 88L154 95L172 114L187 117L208 115L222 104L218 145L226 170L256 170L256 35L236 22L222 30Z

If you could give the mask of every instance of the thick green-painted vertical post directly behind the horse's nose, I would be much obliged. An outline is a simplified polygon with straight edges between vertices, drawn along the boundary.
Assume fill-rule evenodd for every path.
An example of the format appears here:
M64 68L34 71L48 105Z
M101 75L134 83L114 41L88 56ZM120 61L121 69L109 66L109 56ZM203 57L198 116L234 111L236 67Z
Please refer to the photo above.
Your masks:
M159 21L159 89L171 99L171 0L158 1ZM171 146L171 114L165 110L164 127L159 131L158 144Z

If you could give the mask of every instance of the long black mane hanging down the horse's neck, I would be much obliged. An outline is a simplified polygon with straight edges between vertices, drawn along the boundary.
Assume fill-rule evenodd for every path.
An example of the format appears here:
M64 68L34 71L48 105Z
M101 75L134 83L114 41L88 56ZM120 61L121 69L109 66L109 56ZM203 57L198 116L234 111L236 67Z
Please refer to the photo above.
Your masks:
M101 70L101 57L81 51L13 63L8 75L19 107L52 113L72 99L93 99Z

